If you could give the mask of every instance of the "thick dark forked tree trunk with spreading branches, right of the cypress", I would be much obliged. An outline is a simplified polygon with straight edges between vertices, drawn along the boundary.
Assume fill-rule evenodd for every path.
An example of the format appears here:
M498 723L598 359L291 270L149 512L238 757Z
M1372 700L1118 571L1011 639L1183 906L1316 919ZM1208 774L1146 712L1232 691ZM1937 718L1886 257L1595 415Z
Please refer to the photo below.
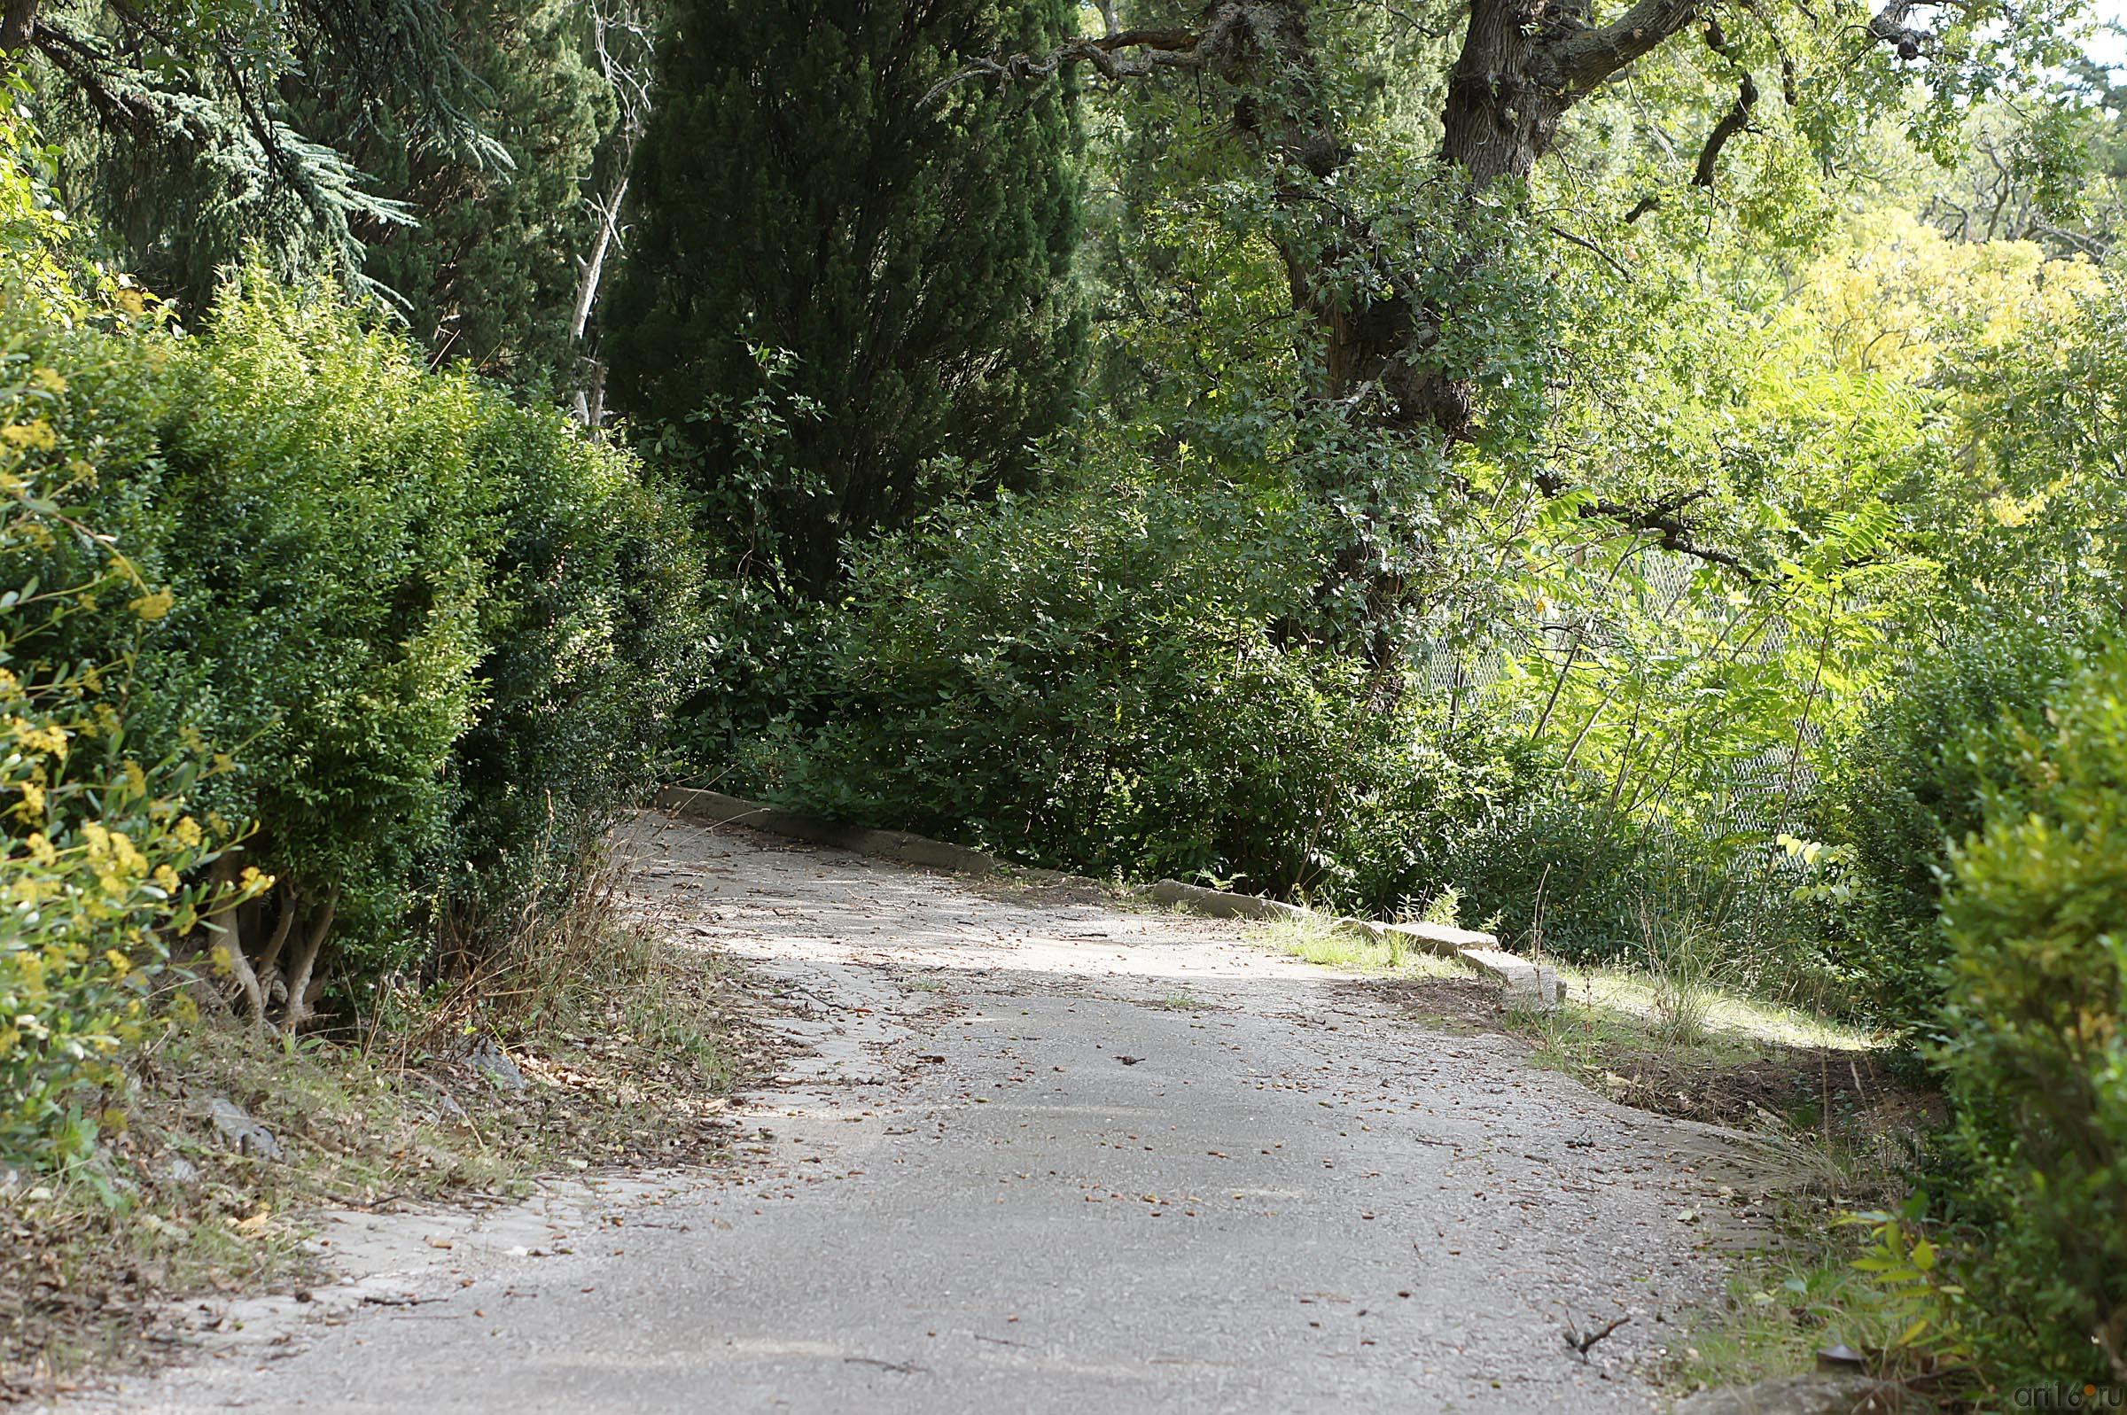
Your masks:
M1893 9L1910 2L1893 0ZM1463 202L1463 219L1476 217L1474 198L1493 183L1527 179L1557 138L1565 111L1689 26L1697 4L1636 0L1597 26L1589 17L1591 0L1470 0L1461 53L1448 70L1440 143L1451 200ZM1119 30L1112 9L1102 6L1102 36L1072 40L1046 57L983 62L961 77L1023 81L1087 64L1110 81L1187 72L1200 85L1204 79L1223 85L1236 132L1261 143L1276 166L1278 202L1314 215L1280 223L1278 253L1293 309L1317 326L1323 343L1321 396L1391 434L1436 447L1463 440L1472 432L1480 370L1427 368L1451 311L1410 294L1412 266L1425 253L1393 249L1332 183L1357 149L1327 100L1308 9L1308 0L1212 0L1202 11L1202 28L1185 32ZM1742 106L1748 106L1748 91ZM1485 260L1480 245L1470 247L1455 274L1476 281ZM1363 289L1344 274L1353 266L1368 268ZM1385 547L1383 538L1397 532L1366 517L1361 513L1353 543L1329 566L1323 598L1346 587L1361 592L1359 643L1385 698L1393 700L1404 651L1395 626L1410 596L1393 566L1395 551L1406 547Z

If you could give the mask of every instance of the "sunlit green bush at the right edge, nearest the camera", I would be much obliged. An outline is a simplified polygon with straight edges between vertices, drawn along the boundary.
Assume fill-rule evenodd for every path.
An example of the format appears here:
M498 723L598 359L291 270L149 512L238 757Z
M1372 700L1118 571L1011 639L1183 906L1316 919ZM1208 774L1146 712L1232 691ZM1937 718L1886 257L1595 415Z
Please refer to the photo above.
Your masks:
M2127 1381L2127 651L2012 766L1946 894L1938 1062L1995 1219L1999 1355Z

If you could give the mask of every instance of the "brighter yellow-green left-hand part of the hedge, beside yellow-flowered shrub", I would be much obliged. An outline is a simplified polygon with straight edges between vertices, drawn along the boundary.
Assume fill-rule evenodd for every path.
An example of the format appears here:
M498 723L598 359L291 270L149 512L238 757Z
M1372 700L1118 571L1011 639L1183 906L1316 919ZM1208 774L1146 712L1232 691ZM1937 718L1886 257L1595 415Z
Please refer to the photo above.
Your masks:
M338 900L357 968L393 966L479 706L487 409L330 300L264 279L223 296L177 381L153 468L177 609L143 677L240 745L223 811L262 823L253 853L304 900Z

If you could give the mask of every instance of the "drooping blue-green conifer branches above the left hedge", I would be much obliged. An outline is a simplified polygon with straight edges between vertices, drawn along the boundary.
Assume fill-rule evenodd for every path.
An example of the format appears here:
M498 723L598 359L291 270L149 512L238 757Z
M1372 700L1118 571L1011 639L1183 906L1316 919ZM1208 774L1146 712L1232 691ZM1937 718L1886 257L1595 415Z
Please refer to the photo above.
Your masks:
M38 0L21 53L38 121L66 153L74 202L119 266L198 313L221 270L264 253L279 272L330 272L357 292L366 243L408 221L289 102L330 74L355 113L404 115L408 136L506 164L464 111L470 74L436 0Z

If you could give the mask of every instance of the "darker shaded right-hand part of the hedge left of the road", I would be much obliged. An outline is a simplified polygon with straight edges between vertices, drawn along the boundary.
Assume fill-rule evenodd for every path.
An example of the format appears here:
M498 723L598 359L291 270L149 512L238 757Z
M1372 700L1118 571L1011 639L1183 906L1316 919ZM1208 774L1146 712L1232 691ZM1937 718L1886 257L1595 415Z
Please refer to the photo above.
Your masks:
M702 677L702 557L685 509L551 409L487 394L472 447L485 519L474 670L434 900L453 951L570 896L613 813L647 794Z

